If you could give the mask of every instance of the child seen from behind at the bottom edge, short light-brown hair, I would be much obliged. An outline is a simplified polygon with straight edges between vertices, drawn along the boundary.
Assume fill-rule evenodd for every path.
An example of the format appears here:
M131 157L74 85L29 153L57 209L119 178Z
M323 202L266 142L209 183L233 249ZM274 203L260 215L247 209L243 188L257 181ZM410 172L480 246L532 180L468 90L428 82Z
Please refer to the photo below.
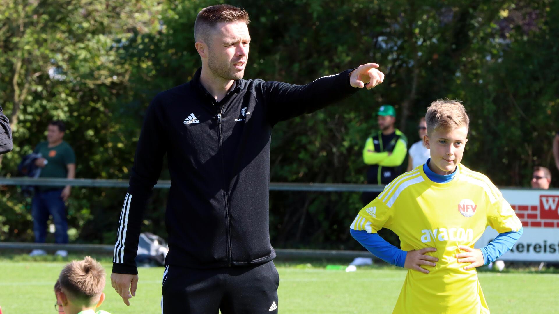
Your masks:
M96 312L105 301L105 269L95 259L86 256L71 261L60 272L58 281L60 292L56 294L66 314L110 314Z

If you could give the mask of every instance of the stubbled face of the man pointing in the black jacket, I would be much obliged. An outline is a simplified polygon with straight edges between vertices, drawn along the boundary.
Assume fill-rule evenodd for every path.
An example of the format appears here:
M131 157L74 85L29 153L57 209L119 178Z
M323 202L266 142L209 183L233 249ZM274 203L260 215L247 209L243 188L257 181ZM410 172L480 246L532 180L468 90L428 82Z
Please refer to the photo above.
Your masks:
M208 67L217 77L241 79L247 67L250 36L247 23L219 23L211 31Z

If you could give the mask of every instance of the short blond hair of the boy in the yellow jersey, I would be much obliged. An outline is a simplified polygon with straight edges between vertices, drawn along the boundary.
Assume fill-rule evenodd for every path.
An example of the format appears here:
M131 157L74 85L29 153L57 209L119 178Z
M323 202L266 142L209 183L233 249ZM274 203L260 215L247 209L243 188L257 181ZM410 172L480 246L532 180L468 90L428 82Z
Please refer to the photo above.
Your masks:
M466 108L461 101L442 100L434 101L427 108L425 114L427 122L427 134L432 134L434 130L454 130L465 126L470 129L470 118L466 113Z

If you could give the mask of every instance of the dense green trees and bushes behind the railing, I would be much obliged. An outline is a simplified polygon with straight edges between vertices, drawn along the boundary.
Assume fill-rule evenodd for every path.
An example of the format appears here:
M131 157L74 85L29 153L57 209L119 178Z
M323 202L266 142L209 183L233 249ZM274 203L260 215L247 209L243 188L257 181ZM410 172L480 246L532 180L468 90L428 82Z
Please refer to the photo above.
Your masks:
M145 108L200 66L193 23L215 1L0 0L0 106L13 129L0 175L64 120L78 178L127 179ZM471 116L463 163L501 186L528 186L534 165L557 177L551 144L559 106L559 4L551 0L231 1L250 16L245 78L304 84L374 61L383 84L278 124L273 182L363 183L361 150L375 112L393 104L397 127L431 101L461 99ZM168 179L166 169L162 179ZM557 186L556 183L552 183ZM74 188L73 241L112 244L125 191ZM145 231L165 236L167 191L154 193ZM30 198L0 193L0 240L32 241ZM271 193L277 247L356 249L348 226L356 193Z

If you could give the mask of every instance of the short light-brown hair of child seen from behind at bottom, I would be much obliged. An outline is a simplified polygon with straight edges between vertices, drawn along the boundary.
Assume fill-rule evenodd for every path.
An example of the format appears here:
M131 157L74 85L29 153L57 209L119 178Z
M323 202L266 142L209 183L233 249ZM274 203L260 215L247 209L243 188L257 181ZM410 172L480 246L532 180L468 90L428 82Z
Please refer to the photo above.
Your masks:
M68 263L60 272L58 280L68 298L91 305L99 301L97 297L101 296L105 288L105 269L98 261L86 256L83 260Z

